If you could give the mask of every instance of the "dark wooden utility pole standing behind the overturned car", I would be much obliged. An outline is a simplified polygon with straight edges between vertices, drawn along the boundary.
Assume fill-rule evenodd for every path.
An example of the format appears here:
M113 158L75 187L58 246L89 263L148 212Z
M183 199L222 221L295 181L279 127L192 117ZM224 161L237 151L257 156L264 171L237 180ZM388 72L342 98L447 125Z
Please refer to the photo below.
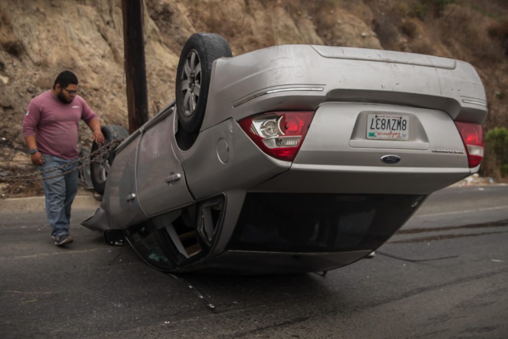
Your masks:
M143 0L122 0L122 14L129 132L133 133L148 121Z

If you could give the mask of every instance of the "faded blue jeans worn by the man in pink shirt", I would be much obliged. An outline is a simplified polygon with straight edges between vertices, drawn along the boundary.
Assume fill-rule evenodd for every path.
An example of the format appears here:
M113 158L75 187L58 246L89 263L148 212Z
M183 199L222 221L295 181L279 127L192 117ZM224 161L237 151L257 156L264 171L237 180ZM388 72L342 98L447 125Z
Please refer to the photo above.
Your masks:
M43 155L43 158L44 165L39 167L41 172L73 161L73 159L65 160L48 155ZM46 178L76 168L77 166L78 164L76 163L63 169L45 173L42 176ZM69 234L71 205L78 192L78 182L78 171L53 179L43 179L44 195L46 197L46 215L51 226L51 235L54 237Z

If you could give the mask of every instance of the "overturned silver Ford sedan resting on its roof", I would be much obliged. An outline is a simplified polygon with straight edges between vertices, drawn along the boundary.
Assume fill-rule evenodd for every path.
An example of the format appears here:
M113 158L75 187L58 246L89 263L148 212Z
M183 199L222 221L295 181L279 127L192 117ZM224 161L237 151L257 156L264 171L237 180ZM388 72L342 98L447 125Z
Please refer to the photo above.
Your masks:
M83 225L172 272L341 267L478 171L486 115L462 61L313 45L232 57L195 34L176 101L130 136L103 128L126 138L92 164L104 195Z

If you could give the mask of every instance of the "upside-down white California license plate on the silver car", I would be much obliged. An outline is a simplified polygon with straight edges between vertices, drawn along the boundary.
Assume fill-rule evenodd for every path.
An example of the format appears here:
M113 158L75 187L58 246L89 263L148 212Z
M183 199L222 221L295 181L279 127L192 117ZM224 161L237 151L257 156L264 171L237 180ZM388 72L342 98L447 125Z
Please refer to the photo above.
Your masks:
M407 140L409 116L395 114L367 115L367 139Z

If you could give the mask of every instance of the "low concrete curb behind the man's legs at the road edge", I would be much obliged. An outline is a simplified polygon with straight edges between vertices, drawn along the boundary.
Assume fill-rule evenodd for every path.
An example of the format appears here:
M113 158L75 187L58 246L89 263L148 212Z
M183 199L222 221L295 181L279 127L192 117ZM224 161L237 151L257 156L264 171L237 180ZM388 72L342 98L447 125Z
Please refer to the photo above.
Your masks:
M72 203L72 208L98 208L100 201L92 195L77 195ZM26 198L0 199L0 213L19 211L44 211L46 202L44 196Z

